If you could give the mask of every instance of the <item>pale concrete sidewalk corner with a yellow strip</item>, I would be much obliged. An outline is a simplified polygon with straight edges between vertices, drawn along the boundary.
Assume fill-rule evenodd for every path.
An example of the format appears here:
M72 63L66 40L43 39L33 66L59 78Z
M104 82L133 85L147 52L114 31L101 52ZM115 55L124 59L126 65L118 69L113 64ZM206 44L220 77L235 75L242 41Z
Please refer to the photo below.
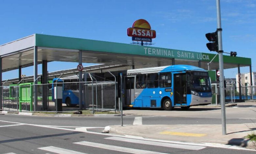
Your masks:
M144 138L191 142L219 143L256 148L244 137L256 133L256 124L228 124L227 135L222 135L222 125L127 125L110 126L109 132Z

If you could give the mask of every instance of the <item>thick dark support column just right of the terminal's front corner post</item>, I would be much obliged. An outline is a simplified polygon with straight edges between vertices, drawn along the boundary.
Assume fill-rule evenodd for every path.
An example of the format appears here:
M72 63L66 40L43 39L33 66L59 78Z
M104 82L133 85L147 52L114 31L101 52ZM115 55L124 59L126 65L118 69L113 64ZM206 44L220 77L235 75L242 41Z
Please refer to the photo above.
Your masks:
M46 85L48 83L47 81L47 61L43 60L42 61L42 81L41 83L43 84L42 88L43 88L43 93L42 93L42 101L43 101L43 110L47 110L47 90L48 90L48 85Z

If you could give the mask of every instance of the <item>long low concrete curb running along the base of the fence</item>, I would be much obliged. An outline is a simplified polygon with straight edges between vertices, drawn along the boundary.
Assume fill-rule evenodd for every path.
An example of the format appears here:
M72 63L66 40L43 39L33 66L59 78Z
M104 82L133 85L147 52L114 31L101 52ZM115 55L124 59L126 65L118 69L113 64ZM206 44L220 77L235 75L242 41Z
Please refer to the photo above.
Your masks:
M47 113L18 112L18 111L2 111L2 114L49 116L49 117L118 117L118 116L121 116L121 114L47 114Z

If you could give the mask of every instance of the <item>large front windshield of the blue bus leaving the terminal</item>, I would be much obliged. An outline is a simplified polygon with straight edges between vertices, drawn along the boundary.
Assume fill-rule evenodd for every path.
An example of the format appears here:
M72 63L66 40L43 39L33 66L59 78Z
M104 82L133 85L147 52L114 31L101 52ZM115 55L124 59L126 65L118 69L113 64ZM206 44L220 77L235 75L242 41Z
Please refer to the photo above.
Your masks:
M191 90L195 92L211 92L208 72L193 72Z

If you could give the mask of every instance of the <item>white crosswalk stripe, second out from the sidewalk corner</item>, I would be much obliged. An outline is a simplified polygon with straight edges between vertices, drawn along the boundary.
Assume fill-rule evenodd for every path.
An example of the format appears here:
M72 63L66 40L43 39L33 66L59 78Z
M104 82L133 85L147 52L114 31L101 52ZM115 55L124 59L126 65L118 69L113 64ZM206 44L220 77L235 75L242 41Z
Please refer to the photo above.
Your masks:
M87 142L87 141L75 142L74 144L80 144L80 145L86 145L86 146L92 146L92 147L97 147L97 148L102 148L102 149L134 153L134 154L165 154L165 153L160 153L160 152L139 150L139 149L120 147L120 146L115 146L115 145L100 144L100 143L93 143L93 142Z

